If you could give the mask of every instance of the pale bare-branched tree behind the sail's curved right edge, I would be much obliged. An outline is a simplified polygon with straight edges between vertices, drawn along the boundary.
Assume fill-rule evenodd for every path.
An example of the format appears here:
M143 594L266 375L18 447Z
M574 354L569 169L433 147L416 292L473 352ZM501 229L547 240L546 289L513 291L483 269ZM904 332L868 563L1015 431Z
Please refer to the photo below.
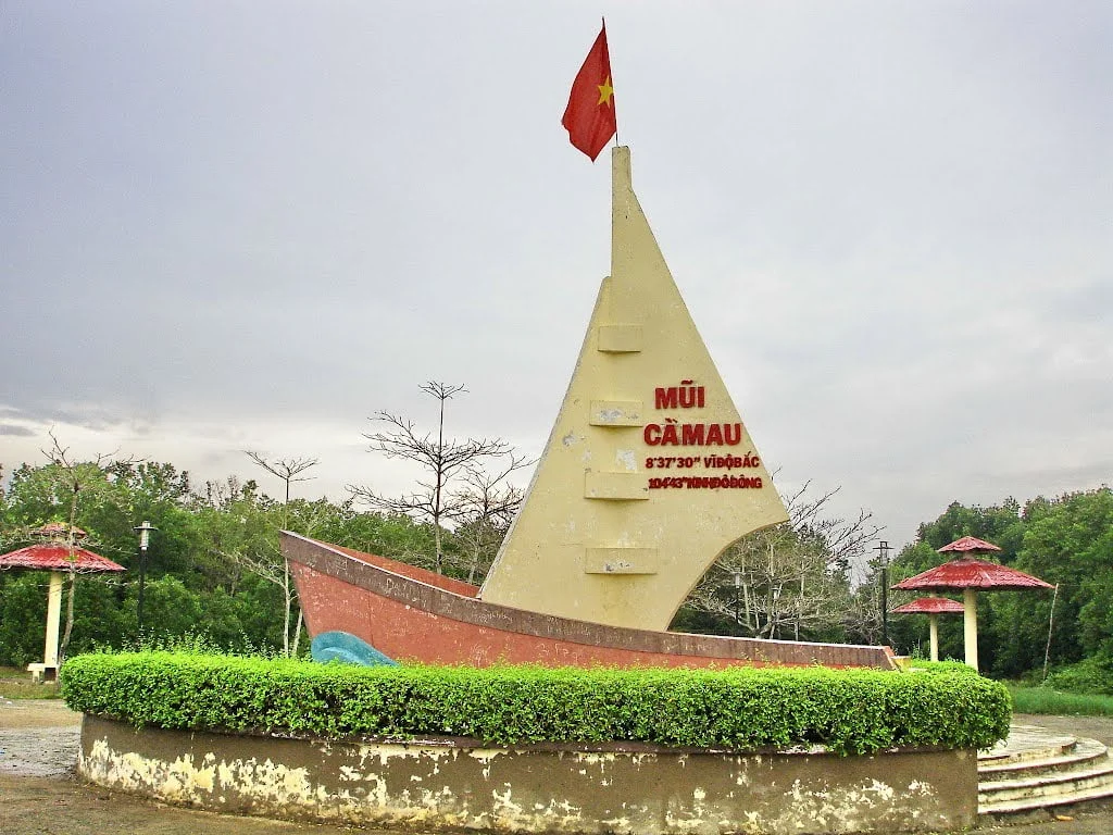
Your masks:
M728 548L688 598L688 606L733 619L759 638L807 638L845 625L853 606L850 568L880 528L867 511L828 515L838 490L810 497L810 482L786 497L789 521L755 531Z

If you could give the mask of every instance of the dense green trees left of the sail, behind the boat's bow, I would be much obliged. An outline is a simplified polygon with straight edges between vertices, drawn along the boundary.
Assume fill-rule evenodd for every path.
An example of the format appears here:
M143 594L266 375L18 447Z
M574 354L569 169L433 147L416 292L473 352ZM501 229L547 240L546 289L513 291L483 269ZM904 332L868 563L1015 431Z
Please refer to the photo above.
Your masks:
M282 528L415 563L431 564L434 551L429 525L361 513L349 501L293 499L284 508L254 481L232 478L195 489L188 473L154 462L88 462L77 464L77 472L86 482L75 520L89 532L82 544L127 570L78 577L71 654L120 648L139 638L139 553L132 528L145 519L158 531L146 558L144 638L201 632L232 651L283 646L283 591L248 568L282 566ZM7 488L0 484L4 550L29 544L30 528L68 521L72 491L65 474L56 464L23 464ZM47 582L43 572L0 572L0 664L26 667L41 660ZM306 646L303 639L302 649Z

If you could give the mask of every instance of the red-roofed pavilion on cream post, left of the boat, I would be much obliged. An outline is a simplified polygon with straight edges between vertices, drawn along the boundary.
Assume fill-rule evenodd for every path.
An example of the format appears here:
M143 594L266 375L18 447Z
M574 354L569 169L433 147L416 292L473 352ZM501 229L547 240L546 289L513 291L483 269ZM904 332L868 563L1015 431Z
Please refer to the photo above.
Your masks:
M32 533L65 537L67 528L53 523ZM75 538L85 536L85 531L78 528L73 529L73 533ZM97 571L122 571L124 566L76 544L70 547L66 542L51 541L37 542L0 556L0 570L2 569L50 572L50 589L47 592L47 640L42 651L42 664L29 665L28 669L36 678L52 679L58 675L58 627L62 615L62 579L70 572L87 574Z

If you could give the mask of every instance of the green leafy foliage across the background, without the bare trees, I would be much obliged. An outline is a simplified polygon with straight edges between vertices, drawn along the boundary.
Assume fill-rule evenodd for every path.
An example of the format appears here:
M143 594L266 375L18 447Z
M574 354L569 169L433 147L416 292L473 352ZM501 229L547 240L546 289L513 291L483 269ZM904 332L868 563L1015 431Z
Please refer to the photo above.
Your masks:
M89 531L91 550L127 570L110 577L78 578L71 654L97 646L119 648L136 640L139 554L132 528L145 519L158 528L146 560L146 637L166 639L201 632L234 651L283 646L283 591L247 567L280 564L278 530L283 527L413 564L432 567L434 562L436 537L431 525L403 515L358 512L351 501L292 499L284 508L260 492L254 481L233 478L198 487L188 473L166 463L86 462L78 464L77 471L86 485L76 523ZM0 484L0 546L4 550L28 544L29 528L68 521L72 491L67 492L63 474L56 464L24 464L10 471L7 487ZM766 536L774 533L778 531ZM467 549L449 531L441 534L446 572L466 578ZM1054 669L1092 657L1113 658L1113 491L1102 488L1037 498L1023 505L1012 499L989 507L955 502L935 521L920 525L919 541L894 560L890 582L939 564L943 557L936 549L966 534L1001 546L1003 551L995 559L1058 583L1053 625L1050 591L979 595L983 670L1009 679L1042 671L1050 626ZM810 548L821 544L817 536L810 524L792 534L786 552L795 557L784 567L788 573L772 572L785 582L764 578L768 566L751 554L752 559L747 557L745 564L738 566L745 569L741 576L746 583L739 606L732 574L720 572L720 588L710 603L701 610L686 607L678 612L673 628L879 641L878 578L875 574L850 593L841 562L810 559L823 551ZM815 599L821 606L815 611L794 603L798 597L794 589L800 582L790 572L797 566L808 578L807 588L817 591ZM45 573L0 572L0 664L23 667L41 660L46 597ZM890 603L898 606L910 597L895 592ZM765 631L746 625L746 612L758 609ZM741 618L737 617L739 610ZM824 619L811 618L817 613ZM910 654L916 648L926 652L927 619L893 616L889 637L900 652ZM940 618L939 637L940 657L963 656L961 617ZM303 649L306 642L303 636ZM1085 666L1064 672L1063 686L1106 691L1093 672ZM1072 677L1078 676L1083 679L1071 684Z

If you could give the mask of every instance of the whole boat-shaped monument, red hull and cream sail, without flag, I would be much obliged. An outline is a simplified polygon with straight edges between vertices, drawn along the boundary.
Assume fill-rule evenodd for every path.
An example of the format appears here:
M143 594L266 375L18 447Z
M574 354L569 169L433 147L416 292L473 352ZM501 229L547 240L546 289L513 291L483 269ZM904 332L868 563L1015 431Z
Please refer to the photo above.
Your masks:
M788 520L612 149L611 272L522 509L481 587L283 534L314 656L893 669L888 647L670 632L730 544Z

